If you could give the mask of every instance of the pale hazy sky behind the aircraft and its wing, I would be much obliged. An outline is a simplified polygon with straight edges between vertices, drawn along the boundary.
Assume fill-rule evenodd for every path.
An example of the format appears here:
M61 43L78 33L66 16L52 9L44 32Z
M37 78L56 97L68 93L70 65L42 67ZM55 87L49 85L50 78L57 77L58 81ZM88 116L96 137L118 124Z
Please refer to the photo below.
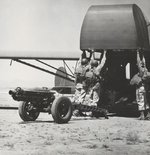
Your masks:
M80 53L80 30L91 5L133 3L150 21L149 0L0 0L0 53ZM60 61L46 62L55 67L63 65ZM75 62L68 65L73 70ZM0 60L0 73L0 87L54 85L53 75L17 62L10 66L10 60Z

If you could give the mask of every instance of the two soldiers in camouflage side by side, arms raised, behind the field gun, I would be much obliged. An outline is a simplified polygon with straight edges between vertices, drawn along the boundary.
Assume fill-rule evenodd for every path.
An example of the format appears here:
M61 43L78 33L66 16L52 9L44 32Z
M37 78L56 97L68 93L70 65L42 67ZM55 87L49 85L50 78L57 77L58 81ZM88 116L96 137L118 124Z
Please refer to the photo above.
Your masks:
M83 51L75 71L76 103L97 106L100 99L100 73L106 61L106 51L103 51L101 56L101 62L98 62L94 59L94 51L90 52L89 57ZM75 115L78 113L81 114L79 110L76 110Z

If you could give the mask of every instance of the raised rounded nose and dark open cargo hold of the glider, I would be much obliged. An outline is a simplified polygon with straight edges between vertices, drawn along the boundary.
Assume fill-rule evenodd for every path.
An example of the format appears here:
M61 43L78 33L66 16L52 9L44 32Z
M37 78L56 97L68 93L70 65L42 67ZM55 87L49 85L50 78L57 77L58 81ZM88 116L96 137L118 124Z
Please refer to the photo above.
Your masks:
M138 49L143 51L147 60L147 68L150 69L147 22L137 5L91 6L81 28L80 49L95 52L107 50L102 71L104 81L100 105L106 106L107 104L108 107L112 107L120 103L119 101L125 101L127 104L135 101L135 87L129 82L138 72L136 65ZM127 108L127 111L125 108L123 106L121 112L137 110L137 104L134 108Z

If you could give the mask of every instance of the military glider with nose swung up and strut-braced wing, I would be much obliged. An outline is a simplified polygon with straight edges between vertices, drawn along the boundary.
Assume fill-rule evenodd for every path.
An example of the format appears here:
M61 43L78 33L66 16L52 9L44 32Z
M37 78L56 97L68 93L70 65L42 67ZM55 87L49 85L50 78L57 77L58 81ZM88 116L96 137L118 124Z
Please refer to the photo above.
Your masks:
M147 68L150 70L148 26L148 21L136 4L94 5L88 9L81 28L80 50L87 53L94 51L97 60L100 60L104 50L107 51L106 63L102 70L104 77L100 101L102 104L107 103L107 106L110 107L121 101L121 98L127 98L128 103L135 100L135 87L131 87L129 82L138 72L137 50L144 54ZM0 59L12 59L53 74L59 77L55 78L55 86L74 87L74 73L66 73L66 67L69 68L69 66L65 61L77 61L81 53L70 51L65 53L48 52L44 55L30 53L27 55L26 53L11 52L10 55L9 52L0 52ZM25 61L26 59L34 59L53 69L56 68L43 60L63 60L65 68L56 69L57 72L54 73L28 63ZM60 82L61 79L65 79L67 82Z

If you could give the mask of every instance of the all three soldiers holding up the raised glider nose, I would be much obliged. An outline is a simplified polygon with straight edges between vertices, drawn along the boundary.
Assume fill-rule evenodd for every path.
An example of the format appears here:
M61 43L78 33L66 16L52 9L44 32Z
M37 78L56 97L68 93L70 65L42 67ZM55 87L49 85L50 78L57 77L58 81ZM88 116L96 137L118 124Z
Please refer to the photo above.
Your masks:
M102 52L100 61L95 59L93 50L89 52L89 57L86 52L83 51L75 70L75 102L97 107L101 97L101 71L106 62L106 51ZM150 120L150 72L146 68L144 55L139 50L137 50L137 68L138 73L133 76L130 85L136 86L139 119ZM76 110L74 115L82 115L82 112Z

